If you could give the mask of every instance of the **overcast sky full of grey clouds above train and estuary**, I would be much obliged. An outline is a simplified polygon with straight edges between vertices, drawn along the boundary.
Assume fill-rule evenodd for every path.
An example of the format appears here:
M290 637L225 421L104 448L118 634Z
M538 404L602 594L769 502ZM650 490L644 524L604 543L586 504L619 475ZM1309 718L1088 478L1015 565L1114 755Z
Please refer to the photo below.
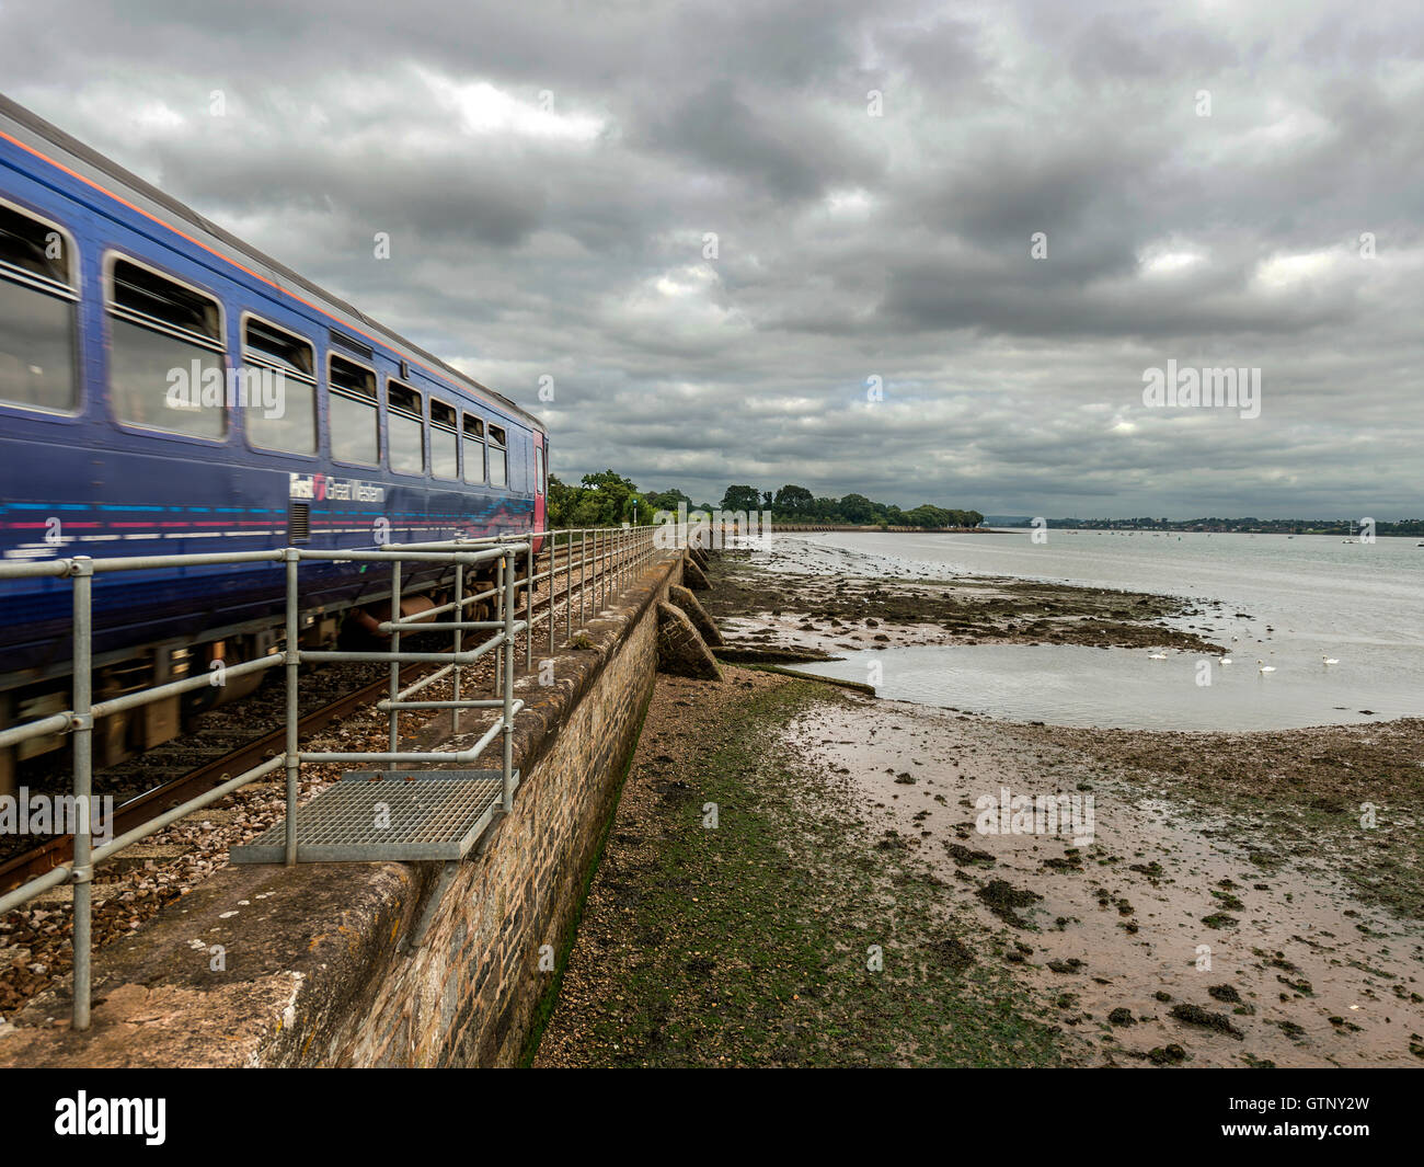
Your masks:
M565 479L1424 514L1417 3L0 0L0 90ZM1146 408L1168 361L1260 416Z

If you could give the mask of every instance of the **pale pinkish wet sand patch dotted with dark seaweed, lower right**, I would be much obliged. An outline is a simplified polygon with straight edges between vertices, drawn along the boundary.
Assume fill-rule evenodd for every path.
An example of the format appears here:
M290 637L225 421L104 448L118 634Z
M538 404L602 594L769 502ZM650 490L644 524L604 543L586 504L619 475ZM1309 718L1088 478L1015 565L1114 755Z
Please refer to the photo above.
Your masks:
M1260 822L988 718L846 695L783 732L823 772L849 769L956 915L997 926L998 958L1054 1002L1075 1060L1176 1046L1193 1066L1424 1064L1420 920L1366 903L1337 863L1277 854ZM981 832L977 801L1002 789L1091 795L1091 842Z

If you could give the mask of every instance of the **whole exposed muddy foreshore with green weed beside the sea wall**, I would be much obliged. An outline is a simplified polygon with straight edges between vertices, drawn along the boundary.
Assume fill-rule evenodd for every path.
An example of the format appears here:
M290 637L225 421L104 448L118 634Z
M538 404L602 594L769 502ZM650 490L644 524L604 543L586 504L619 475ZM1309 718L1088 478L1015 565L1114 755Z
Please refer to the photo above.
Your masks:
M733 645L1156 644L1155 621L1190 616L1172 597L787 566L712 557L699 596ZM948 591L960 628L923 618ZM645 735L537 1064L1424 1063L1421 720L1082 730L725 663L718 683L659 678ZM1001 791L1088 799L1091 839L1034 831L1031 814L1025 831L980 829ZM729 797L778 806L779 858L702 826L699 808ZM745 879L769 863L782 882ZM762 950L787 912L809 948L800 996ZM877 932L889 976L864 968ZM827 1026L836 1042L812 1039Z

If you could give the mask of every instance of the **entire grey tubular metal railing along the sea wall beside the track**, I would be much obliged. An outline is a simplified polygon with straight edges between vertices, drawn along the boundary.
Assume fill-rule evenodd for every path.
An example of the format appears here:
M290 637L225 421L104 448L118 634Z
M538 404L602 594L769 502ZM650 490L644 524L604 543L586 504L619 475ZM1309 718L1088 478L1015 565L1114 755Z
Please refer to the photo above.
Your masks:
M560 557L558 543L562 537L562 591L558 587ZM535 570L534 544L544 540L538 557L547 557L547 567ZM286 839L285 861L298 861L296 801L300 767L305 762L387 762L404 765L412 762L468 764L488 748L494 740L503 738L503 791L501 808L513 809L513 734L514 718L524 702L514 698L514 661L518 634L524 634L525 668L534 665L534 626L548 624L548 651L554 653L555 608L560 594L565 611L565 631L572 636L574 603L580 610L580 621L587 618L590 601L597 614L601 604L641 567L655 556L655 540L651 527L577 527L545 530L524 534L486 536L478 539L454 539L437 543L410 543L377 547L375 550L323 550L285 547L269 551L232 551L174 556L134 556L115 559L70 559L0 563L0 580L11 579L68 579L73 584L73 708L60 714L13 725L0 731L0 748L16 745L31 738L54 734L70 734L74 744L74 858L54 869L31 879L9 893L0 895L0 913L27 903L41 892L66 882L74 883L74 1006L73 1029L87 1029L90 1025L93 996L93 892L94 865L132 846L148 835L157 834L178 819L199 811L212 802L265 778L278 769L286 771ZM520 559L524 559L524 574L518 573ZM389 653L352 653L328 650L303 650L300 636L299 567L303 561L322 563L390 563L390 614L377 628L390 634ZM420 613L417 618L400 616L402 563L444 564L454 569L454 600L434 610ZM239 677L283 665L286 668L286 745L282 754L255 765L218 787L195 795L165 811L127 834L95 848L93 845L93 734L95 720L138 708L168 697L175 697L195 688L212 684L211 675L188 677L169 681L147 690L124 694L108 701L93 700L93 643L94 643L94 576L118 571L151 571L162 569L204 567L234 563L283 564L286 571L286 645L285 651L269 654L253 661L244 661L224 670L226 677ZM466 594L466 570L481 564L494 564L497 583L493 588ZM575 583L577 570L577 583ZM548 583L548 594L543 604L537 601L538 587ZM515 620L515 606L520 591L524 591L524 618ZM496 603L494 620L468 620L467 610L484 600ZM540 611L543 608L543 611ZM430 621L429 617L454 613L459 618ZM400 648L402 633L449 630L453 633L451 653L413 653ZM466 633L488 631L486 640L470 648ZM503 651L497 651L503 650ZM463 670L481 657L494 653L494 691L490 698L461 698ZM322 661L376 661L390 664L390 697L377 702L377 710L389 715L389 744L386 752L330 752L306 751L298 741L298 695L299 671L303 663ZM414 684L400 688L400 668L412 663L439 663L443 667ZM412 701L410 698L443 677L453 678L453 700ZM453 728L459 732L460 711L497 708L496 721L470 748L453 752L402 752L399 745L399 718L403 710L451 710Z

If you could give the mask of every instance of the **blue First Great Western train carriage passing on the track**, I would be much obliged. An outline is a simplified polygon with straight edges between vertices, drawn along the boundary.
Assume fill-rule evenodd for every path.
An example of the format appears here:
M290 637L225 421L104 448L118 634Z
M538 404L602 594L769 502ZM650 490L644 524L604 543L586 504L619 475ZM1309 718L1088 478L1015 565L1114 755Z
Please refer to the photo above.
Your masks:
M0 97L6 561L543 530L547 466L537 417ZM303 566L310 643L384 587ZM268 564L98 577L95 695L271 651L281 597ZM0 725L67 708L68 583L0 604ZM181 717L107 727L100 761Z

